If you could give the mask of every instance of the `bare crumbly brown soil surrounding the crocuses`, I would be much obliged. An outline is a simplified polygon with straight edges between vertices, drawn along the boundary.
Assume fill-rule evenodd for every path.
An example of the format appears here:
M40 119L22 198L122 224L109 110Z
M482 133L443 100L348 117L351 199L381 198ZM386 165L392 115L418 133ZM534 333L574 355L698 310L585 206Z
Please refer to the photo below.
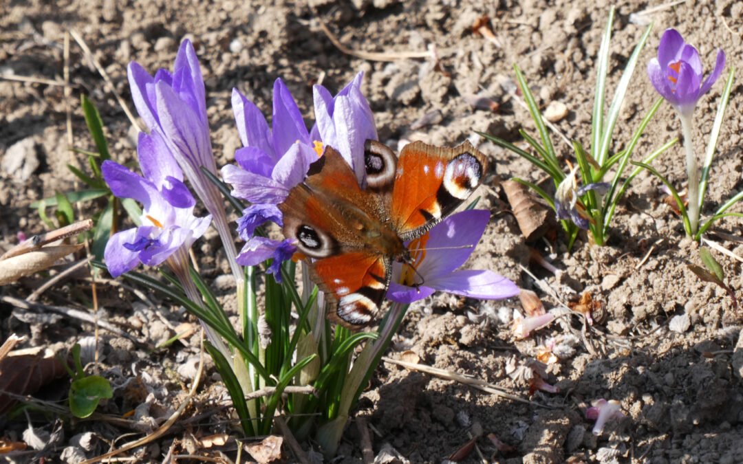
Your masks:
M567 106L567 117L556 122L559 131L588 148L594 65L609 6L606 1L586 0L5 0L0 15L0 74L62 80L63 35L65 30L77 30L114 89L73 45L69 72L76 87L68 102L74 146L94 149L79 105L80 95L86 94L102 114L114 159L132 162L136 132L112 90L132 107L126 65L135 60L149 71L171 68L179 42L188 36L204 72L218 166L232 162L239 147L230 109L233 87L270 114L272 83L282 77L311 122L311 85L322 79L323 85L337 91L359 70L366 73L364 91L380 140L392 148L400 140L454 146L470 138L490 156L495 168L478 206L489 208L493 219L468 266L492 269L519 287L535 290L548 309L559 310L562 303L583 292L602 301L603 309L594 314L593 327L584 328L580 318L563 317L530 338L516 341L510 331L510 312L520 309L518 299L482 302L434 295L413 305L388 353L391 358L412 350L422 364L483 379L527 398L528 384L516 375L519 366L536 356L545 341L557 337L558 342L574 346L565 359L547 367L548 382L557 385L560 393L537 392L531 403L513 402L383 362L345 432L339 450L343 462L361 460L355 422L363 417L375 432L374 454L389 443L402 455L400 459L412 463L445 460L469 440L473 422L481 425L484 434L493 433L515 447L515 451L501 453L487 437L481 437L478 446L488 462L740 463L741 317L733 312L724 290L700 281L687 268L687 264L701 266L699 245L684 238L681 220L663 201L658 180L646 173L637 177L620 203L606 246L591 245L585 235L571 252L562 237L533 244L563 271L556 276L530 264L530 250L498 183L513 176L535 182L545 179L525 160L474 134L485 131L525 146L519 129L533 133L528 111L508 92L516 63L542 108L551 102ZM644 1L617 3L610 92L644 30L630 15L652 6ZM473 24L485 16L496 41L473 33ZM721 80L731 66L740 65L743 11L737 2L687 1L645 17L655 22L655 28L629 88L612 151L626 145L657 98L644 67L666 27L675 27L700 50L705 69L712 67L716 48L725 50L728 65ZM334 46L321 23L352 50L393 56L433 45L440 61L437 66L431 59L360 59ZM716 83L696 109L698 154L704 152L722 88L722 82ZM498 111L473 108L464 98L472 94L498 102ZM45 231L39 215L29 207L31 201L74 189L74 176L65 164L82 167L85 158L66 148L66 104L62 87L0 80L0 160L11 153L23 157L23 163L0 165L0 249L16 244L19 232L30 236ZM742 188L742 104L736 84L703 214L709 215ZM440 117L432 124L411 128L431 111L438 111ZM679 133L678 118L669 105L663 105L643 135L636 159ZM560 156L571 158L570 146L555 134L553 140ZM681 146L661 155L654 166L681 188L686 177ZM95 206L83 209L82 214L90 217L94 212ZM740 220L726 218L714 227L718 234L707 238L742 256L740 227ZM227 308L234 309L229 269L216 234L207 234L195 252L204 276ZM717 251L713 255L724 268L727 284L740 295L740 261ZM524 268L531 269L536 280ZM44 280L26 278L1 287L0 295L25 298ZM155 301L153 309L131 288L104 284L99 291L101 317L126 324L129 333L152 344L169 339L186 318L178 307L154 295L149 295ZM90 298L88 284L71 280L48 290L42 301L71 305L71 301L81 301L81 294ZM80 321L62 318L52 322L28 314L0 303L0 339L15 332L29 336L26 346L62 350L93 333L90 324ZM117 401L109 402L104 412L123 414L143 404L146 393L152 393L149 416L166 417L178 407L189 375L194 375L195 336L154 353L126 338L101 336L105 341L101 370L121 388ZM226 396L214 375L212 366L199 396L201 406L191 411L192 416L209 412L208 401L214 404ZM131 379L140 382L139 390ZM67 387L57 388L66 391ZM585 409L600 398L619 401L626 419L610 422L600 437L594 437L593 421L585 419ZM11 440L20 440L27 427L22 419L3 418L0 424L2 435ZM48 432L53 429L52 422L36 426ZM48 457L59 460L73 436L85 431L94 431L104 440L125 433L102 422L68 422ZM189 443L194 446L189 438L192 431L163 437L132 455L140 462L161 462L173 440L178 441L178 452L186 454L195 449L189 448ZM236 435L234 428L211 422L198 433L206 436L219 431ZM305 450L315 446L312 442L302 445ZM107 449L99 441L83 454L94 457ZM291 452L286 453L291 462ZM464 462L478 462L477 454L473 452Z

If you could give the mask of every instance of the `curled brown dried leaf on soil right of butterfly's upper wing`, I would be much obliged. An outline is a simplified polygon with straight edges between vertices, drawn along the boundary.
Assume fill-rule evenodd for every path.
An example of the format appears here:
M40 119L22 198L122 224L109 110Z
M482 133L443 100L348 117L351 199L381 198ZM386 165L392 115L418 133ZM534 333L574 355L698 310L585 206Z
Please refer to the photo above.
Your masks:
M549 229L554 228L554 212L539 203L529 192L528 186L516 180L504 180L501 185L525 241L539 240Z

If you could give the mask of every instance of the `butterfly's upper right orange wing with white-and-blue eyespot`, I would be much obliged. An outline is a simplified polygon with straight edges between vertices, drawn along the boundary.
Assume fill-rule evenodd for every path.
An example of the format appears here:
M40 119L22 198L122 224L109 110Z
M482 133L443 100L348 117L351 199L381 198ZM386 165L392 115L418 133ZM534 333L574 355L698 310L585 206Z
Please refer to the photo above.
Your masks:
M455 148L409 143L400 152L392 191L392 223L403 240L450 215L482 183L487 157L469 142Z

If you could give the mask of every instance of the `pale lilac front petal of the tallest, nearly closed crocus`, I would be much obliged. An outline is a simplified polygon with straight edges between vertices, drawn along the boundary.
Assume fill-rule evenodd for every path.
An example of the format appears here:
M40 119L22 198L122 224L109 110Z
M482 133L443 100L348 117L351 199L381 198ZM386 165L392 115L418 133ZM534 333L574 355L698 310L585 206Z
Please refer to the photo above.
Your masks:
M155 88L163 135L178 164L186 171L186 177L195 184L198 179L204 177L200 166L212 172L216 171L209 140L209 126L201 123L194 109L180 99L169 85L158 82ZM200 189L198 185L193 187L197 192Z

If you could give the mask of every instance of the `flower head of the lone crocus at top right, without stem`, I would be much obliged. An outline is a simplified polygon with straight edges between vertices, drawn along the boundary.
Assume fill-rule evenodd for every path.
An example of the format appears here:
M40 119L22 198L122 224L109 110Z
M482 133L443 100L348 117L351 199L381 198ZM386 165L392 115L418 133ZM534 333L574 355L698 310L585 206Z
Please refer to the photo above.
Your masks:
M712 73L702 82L699 53L675 29L666 29L658 46L658 58L648 63L648 76L658 94L683 114L694 111L697 100L712 88L725 67L725 53L717 51Z

